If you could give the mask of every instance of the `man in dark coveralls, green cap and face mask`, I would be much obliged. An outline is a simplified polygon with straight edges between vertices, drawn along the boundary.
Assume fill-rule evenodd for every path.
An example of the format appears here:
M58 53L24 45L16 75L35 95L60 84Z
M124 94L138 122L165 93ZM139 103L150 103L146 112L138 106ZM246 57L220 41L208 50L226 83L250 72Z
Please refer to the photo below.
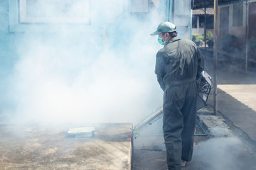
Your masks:
M203 55L191 40L177 37L176 26L161 23L151 35L164 45L156 54L155 73L164 91L163 131L169 170L181 169L193 153L196 125L196 80L204 69Z

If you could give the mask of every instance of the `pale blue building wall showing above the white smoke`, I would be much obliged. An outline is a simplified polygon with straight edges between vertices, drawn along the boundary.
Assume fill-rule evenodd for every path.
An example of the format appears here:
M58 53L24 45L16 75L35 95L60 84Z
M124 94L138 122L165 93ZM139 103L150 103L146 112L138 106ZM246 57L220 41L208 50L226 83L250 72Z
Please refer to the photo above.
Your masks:
M24 1L24 0L23 0ZM138 1L131 0L136 6L138 6ZM162 21L171 16L166 14L166 3L167 1L152 0L149 1L154 3L155 6L147 6L145 0L142 0L141 6L138 8L132 8L131 1L116 1L115 4L110 4L107 6L98 6L97 1L91 1L90 6L93 8L91 13L92 17L90 18L89 26L82 26L82 24L68 24L58 26L57 24L45 24L45 23L23 23L18 22L18 0L1 0L0 1L0 77L6 77L6 75L11 72L11 67L14 65L16 60L18 60L18 49L21 40L28 40L24 38L30 34L30 36L35 35L39 36L43 33L46 36L55 35L60 29L74 30L74 32L81 32L79 36L84 36L83 41L88 41L90 37L93 37L95 33L100 33L100 38L103 35L114 35L114 32L119 28L122 29L122 26L125 26L125 23L122 23L122 18L137 18L141 22L150 22L154 23L156 27ZM106 1L103 1L106 3ZM118 3L117 3L118 2ZM189 29L190 23L187 16L183 16L183 13L190 14L190 6L186 6L186 10L183 10L183 2L177 0L176 3L176 26L186 26L186 28L181 28L179 30L179 35L189 38ZM184 0L184 2L186 2ZM127 4L126 4L127 3ZM186 4L189 4L186 2ZM151 5L151 4L150 4ZM179 6L177 6L179 5ZM190 4L189 4L190 5ZM121 6L121 7L120 7ZM122 7L123 6L123 7ZM134 6L134 7L136 7ZM146 7L145 7L146 6ZM118 7L119 11L116 10ZM170 7L171 8L171 7ZM184 7L185 8L185 7ZM181 11L183 13L181 13ZM131 14L131 12L133 12ZM175 13L169 13L173 15ZM180 17L180 18L179 18ZM119 23L118 23L119 22ZM73 26L74 25L74 26ZM129 27L129 26L128 26ZM153 27L153 26L152 26ZM153 29L153 28L152 28ZM124 29L123 29L124 30ZM130 29L131 30L131 29ZM118 30L122 31L122 30ZM129 30L128 30L129 31ZM105 33L103 33L105 32ZM107 33L106 33L107 32ZM129 33L129 32L128 32ZM128 34L127 33L127 34ZM132 33L132 31L131 31ZM98 34L97 34L98 35ZM106 37L106 36L105 36ZM94 39L94 38L92 38ZM129 41L129 38L124 38ZM124 40L124 41L125 41ZM101 42L102 40L100 40ZM114 38L111 42L117 41ZM93 43L92 43L93 44ZM95 45L92 45L95 47Z

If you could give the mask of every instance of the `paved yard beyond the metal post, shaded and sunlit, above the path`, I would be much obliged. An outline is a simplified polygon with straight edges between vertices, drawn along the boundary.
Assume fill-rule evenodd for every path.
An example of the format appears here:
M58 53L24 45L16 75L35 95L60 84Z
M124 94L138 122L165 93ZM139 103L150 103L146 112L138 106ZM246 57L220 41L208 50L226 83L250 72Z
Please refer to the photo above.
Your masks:
M206 56L206 71L213 77L213 57ZM222 56L223 58L223 56ZM239 61L241 62L241 61ZM256 144L256 70L238 61L218 62L218 111L228 120L249 135ZM212 91L213 92L213 91ZM213 106L213 93L208 104Z

